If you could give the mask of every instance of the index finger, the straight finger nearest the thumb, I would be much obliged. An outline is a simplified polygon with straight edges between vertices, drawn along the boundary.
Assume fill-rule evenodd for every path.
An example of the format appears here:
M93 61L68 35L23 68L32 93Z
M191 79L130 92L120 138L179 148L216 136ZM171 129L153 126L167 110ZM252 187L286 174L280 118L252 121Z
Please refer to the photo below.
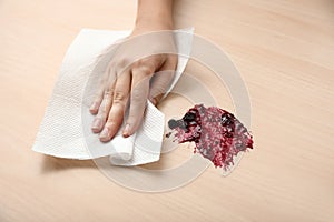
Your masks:
M122 131L124 137L134 134L141 123L149 93L149 80L153 72L153 68L145 65L132 69L130 109L126 127Z

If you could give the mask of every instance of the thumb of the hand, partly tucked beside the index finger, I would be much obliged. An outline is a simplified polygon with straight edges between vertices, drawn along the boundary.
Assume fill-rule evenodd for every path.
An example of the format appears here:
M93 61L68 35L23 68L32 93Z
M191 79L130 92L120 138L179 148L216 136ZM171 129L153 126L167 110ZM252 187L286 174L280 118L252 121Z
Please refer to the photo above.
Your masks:
M176 65L177 57L173 56L164 63L159 72L155 73L150 83L150 91L148 97L150 102L155 105L157 105L157 103L161 100L171 80L174 79Z

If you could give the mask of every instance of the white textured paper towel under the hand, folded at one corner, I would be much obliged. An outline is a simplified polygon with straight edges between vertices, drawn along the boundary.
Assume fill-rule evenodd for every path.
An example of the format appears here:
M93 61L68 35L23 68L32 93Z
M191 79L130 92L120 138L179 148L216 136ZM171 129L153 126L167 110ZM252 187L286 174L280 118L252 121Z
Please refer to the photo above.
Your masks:
M62 61L33 151L69 159L94 159L110 155L116 165L137 165L158 161L164 135L165 117L147 101L139 130L129 138L120 132L107 143L91 132L94 115L89 113L98 70L107 68L112 53L106 49L126 38L129 31L82 29ZM193 28L174 31L178 65L169 92L183 73L191 50Z

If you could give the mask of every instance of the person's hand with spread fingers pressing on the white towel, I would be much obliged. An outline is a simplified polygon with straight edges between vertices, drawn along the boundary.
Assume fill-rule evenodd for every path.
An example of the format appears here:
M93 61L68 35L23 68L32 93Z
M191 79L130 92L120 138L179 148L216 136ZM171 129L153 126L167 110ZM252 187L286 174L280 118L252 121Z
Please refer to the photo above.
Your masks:
M171 32L147 34L135 29L122 42L101 78L90 112L96 114L91 130L102 142L111 140L120 129L129 102L129 113L122 135L131 135L140 125L147 99L155 105L174 78L177 56ZM138 38L138 34L141 34ZM141 58L141 54L148 57ZM140 59L137 59L137 58Z

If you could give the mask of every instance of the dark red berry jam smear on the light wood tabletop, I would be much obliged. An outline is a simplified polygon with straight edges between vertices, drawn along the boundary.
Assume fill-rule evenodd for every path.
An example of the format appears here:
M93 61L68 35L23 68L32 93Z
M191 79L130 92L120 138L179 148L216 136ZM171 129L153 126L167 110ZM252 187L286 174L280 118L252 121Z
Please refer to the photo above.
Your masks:
M233 165L233 157L253 149L253 137L232 113L217 107L196 104L180 120L169 120L179 143L195 142L194 152L209 159L225 170ZM169 134L170 137L170 134Z

